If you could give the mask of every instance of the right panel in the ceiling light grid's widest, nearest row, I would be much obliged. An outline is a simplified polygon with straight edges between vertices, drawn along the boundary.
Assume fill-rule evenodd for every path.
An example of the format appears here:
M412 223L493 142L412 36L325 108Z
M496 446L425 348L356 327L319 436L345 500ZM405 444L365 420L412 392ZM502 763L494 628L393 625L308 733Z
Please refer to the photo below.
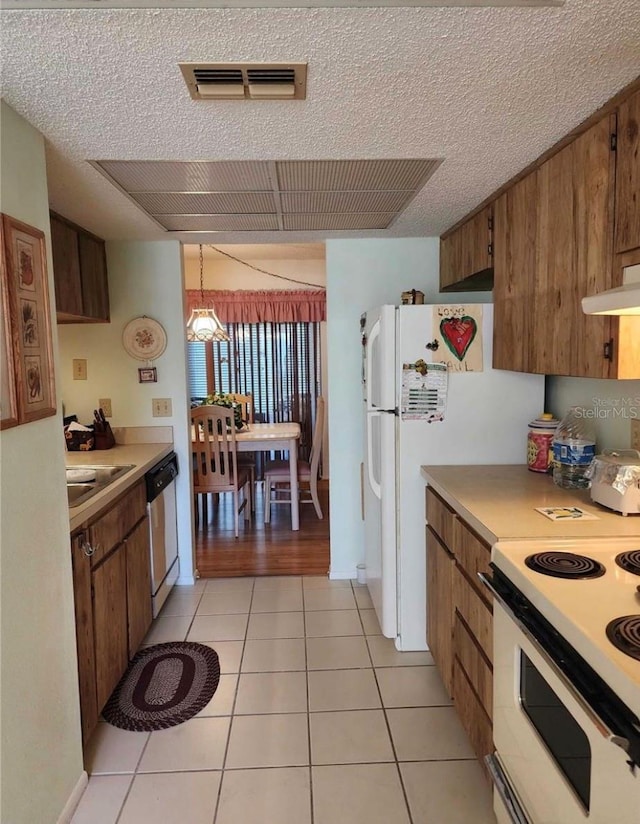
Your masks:
M441 160L293 160L276 163L283 192L418 189Z

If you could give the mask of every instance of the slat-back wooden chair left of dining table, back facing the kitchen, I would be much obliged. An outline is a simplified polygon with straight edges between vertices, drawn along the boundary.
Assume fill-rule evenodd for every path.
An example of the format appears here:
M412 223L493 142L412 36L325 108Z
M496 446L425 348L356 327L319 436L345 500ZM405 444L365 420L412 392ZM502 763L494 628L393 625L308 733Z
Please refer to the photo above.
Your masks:
M251 472L238 464L233 409L224 406L198 406L191 410L191 430L196 505L198 495L231 492L237 538L240 513L244 510L245 520L251 519L253 487Z

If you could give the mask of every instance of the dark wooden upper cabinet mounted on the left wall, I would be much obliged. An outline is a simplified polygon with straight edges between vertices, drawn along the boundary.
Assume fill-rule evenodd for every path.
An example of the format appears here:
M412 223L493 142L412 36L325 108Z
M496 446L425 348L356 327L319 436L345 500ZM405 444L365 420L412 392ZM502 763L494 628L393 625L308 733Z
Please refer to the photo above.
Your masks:
M55 212L50 219L58 323L108 321L104 241Z

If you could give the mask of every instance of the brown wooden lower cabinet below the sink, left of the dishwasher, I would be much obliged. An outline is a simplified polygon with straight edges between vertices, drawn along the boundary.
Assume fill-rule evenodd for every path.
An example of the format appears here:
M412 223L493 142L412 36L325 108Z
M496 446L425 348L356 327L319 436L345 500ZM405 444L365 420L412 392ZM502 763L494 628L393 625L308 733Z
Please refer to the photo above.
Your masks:
M71 536L82 740L86 744L152 621L144 484Z

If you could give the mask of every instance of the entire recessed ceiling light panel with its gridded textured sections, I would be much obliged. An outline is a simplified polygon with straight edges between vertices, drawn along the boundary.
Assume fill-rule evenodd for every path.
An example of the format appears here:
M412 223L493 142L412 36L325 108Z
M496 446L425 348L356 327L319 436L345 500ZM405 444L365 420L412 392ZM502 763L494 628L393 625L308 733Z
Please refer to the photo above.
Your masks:
M93 165L169 232L327 232L386 229L441 162L102 160Z

